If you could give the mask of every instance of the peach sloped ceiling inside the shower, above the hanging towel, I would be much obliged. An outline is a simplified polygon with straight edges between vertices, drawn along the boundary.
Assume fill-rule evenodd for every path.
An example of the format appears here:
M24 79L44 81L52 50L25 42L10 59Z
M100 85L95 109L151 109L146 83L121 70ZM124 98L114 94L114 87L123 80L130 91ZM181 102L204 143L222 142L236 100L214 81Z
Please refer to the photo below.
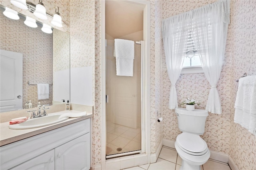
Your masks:
M106 34L120 38L143 30L143 4L106 0Z

